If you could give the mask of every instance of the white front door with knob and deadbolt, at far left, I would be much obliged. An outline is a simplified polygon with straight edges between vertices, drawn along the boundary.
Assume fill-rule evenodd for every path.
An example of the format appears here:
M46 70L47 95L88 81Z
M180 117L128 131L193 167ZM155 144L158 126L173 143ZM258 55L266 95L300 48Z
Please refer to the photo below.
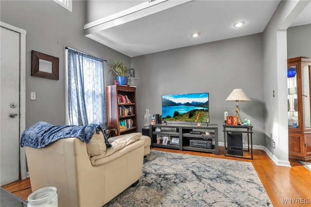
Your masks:
M3 27L3 25L7 27ZM9 29L10 28L10 29ZM25 78L21 67L24 62L21 54L20 31L1 22L0 27L0 185L19 179L19 158L21 157L21 178L25 179L25 155L20 152L19 138L24 127ZM26 33L25 33L26 34ZM23 105L21 105L23 104ZM21 156L20 156L21 153Z

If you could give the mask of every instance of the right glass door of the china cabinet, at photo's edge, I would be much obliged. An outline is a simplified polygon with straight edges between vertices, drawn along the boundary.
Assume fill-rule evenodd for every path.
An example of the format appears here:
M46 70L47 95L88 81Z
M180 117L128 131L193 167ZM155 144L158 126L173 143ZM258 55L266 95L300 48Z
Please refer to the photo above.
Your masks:
M301 64L301 88L302 88L302 108L304 131L311 130L311 112L310 112L310 81L311 81L311 64Z

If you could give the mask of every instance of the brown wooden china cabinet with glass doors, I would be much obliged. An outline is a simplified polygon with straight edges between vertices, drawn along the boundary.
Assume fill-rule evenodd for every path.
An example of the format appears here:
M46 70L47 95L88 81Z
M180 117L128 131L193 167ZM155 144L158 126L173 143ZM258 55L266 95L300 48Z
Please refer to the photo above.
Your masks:
M289 159L311 161L311 59L287 60Z

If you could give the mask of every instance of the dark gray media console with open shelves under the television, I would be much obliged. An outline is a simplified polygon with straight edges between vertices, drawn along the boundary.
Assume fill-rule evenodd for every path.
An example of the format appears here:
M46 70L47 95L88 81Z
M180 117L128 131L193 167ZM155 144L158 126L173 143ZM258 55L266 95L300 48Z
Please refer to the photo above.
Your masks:
M151 147L219 154L217 124L150 124L149 134Z

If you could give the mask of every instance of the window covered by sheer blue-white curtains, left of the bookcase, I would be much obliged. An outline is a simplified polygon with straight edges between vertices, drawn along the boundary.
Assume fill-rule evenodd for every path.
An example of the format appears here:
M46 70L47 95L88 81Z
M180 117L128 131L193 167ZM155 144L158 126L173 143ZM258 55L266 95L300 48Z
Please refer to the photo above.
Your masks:
M104 61L72 49L65 51L66 124L105 127Z

